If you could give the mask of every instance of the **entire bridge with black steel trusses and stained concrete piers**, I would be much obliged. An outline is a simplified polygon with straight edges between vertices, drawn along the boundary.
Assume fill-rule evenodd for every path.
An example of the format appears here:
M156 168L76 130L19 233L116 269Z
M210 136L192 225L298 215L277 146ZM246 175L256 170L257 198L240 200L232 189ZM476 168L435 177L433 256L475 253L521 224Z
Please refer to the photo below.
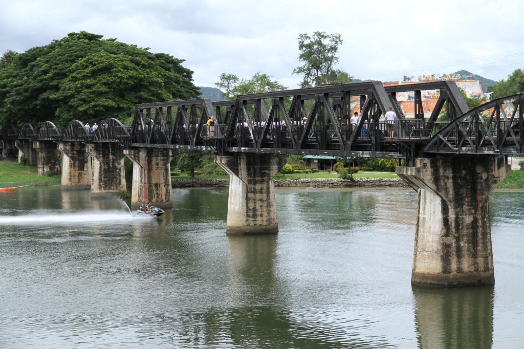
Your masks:
M430 115L422 91L439 90ZM397 93L414 95L406 119ZM452 81L384 87L379 81L207 99L140 104L132 126L106 118L96 132L80 121L8 126L3 148L62 174L63 189L125 190L123 159L133 163L132 204L172 205L169 162L179 149L208 149L230 175L227 234L275 234L272 178L289 154L402 159L397 174L419 193L412 282L426 286L494 283L488 194L522 154L523 95L470 110ZM353 105L352 105L353 103ZM358 106L361 118L351 124ZM394 124L383 121L391 108ZM215 123L206 125L213 117ZM443 119L443 121L441 121Z

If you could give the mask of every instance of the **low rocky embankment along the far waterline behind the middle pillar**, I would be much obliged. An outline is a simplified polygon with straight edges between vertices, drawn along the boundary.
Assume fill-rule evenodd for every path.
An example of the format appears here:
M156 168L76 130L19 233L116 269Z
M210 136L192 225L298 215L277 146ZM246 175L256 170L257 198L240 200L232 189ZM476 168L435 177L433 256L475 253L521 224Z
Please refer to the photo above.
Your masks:
M229 187L228 179L173 179L173 188L215 188ZM306 188L408 188L400 178L355 178L354 181L339 178L301 178L275 180L275 187L306 187Z

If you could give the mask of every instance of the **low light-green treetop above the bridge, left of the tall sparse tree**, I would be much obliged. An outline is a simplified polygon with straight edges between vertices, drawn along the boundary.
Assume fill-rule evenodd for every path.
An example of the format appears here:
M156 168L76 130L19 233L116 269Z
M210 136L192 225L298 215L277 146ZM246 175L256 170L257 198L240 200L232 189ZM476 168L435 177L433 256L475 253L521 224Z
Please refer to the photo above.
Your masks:
M239 94L274 92L287 89L286 86L283 86L276 80L271 80L271 78L271 75L260 72L255 73L249 79L240 79L234 74L222 73L220 81L215 82L215 85L225 91L223 95L228 100L235 99Z

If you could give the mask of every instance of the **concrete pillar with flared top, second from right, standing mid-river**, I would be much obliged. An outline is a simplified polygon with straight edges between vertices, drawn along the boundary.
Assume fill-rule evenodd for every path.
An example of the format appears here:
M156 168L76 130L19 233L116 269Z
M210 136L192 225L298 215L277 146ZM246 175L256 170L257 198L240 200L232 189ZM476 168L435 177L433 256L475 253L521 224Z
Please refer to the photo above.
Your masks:
M234 153L215 156L215 162L230 175L227 204L228 235L278 233L273 177L287 156Z

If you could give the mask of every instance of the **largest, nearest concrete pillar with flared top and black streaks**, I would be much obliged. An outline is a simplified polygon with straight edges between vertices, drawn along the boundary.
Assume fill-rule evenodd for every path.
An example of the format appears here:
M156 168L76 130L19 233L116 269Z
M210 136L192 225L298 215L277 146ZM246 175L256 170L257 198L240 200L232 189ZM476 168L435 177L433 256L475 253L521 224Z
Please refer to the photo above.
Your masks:
M418 191L411 282L480 286L495 282L488 195L506 177L504 156L418 158L397 174Z

